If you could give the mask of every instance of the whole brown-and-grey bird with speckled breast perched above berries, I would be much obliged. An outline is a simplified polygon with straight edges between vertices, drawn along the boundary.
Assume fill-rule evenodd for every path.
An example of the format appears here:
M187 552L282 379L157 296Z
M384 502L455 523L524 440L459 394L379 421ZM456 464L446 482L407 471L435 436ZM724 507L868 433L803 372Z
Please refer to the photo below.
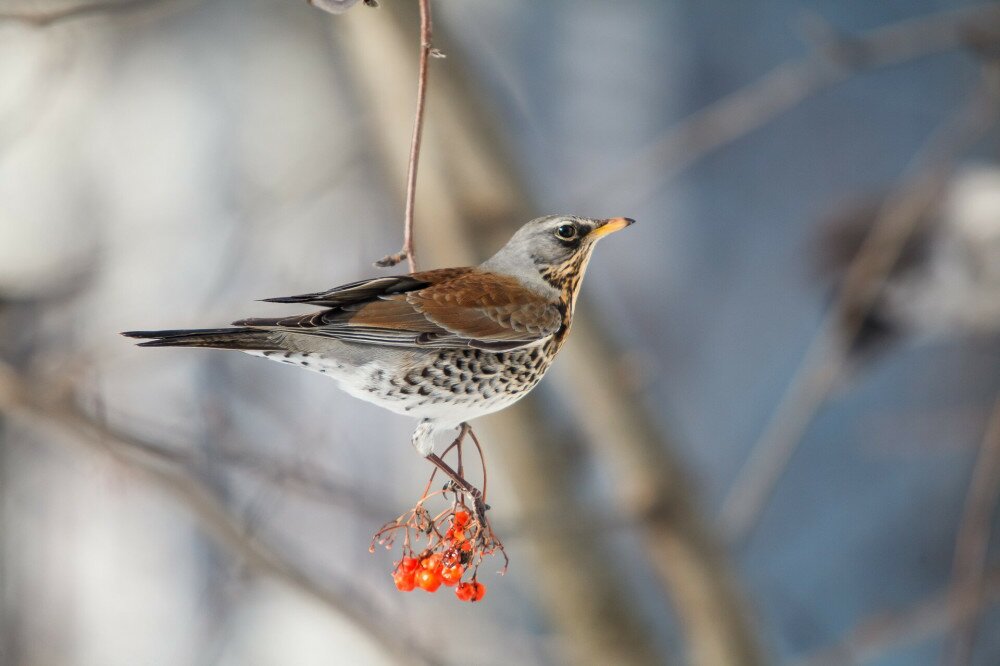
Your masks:
M597 241L633 220L569 215L521 227L476 267L377 277L269 298L317 312L243 319L234 328L129 331L144 347L235 349L329 375L362 400L420 423L413 445L466 491L434 453L436 436L523 398L566 341Z

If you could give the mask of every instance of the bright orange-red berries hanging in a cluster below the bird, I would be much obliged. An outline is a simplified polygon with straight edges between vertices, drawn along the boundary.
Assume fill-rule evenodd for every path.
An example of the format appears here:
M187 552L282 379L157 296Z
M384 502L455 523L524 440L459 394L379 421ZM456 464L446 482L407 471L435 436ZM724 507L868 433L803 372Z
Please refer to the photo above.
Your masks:
M402 592L418 587L436 592L444 585L454 587L455 596L461 601L481 601L486 596L486 586L476 580L475 573L472 580L462 582L462 576L473 568L470 566L473 546L466 534L469 519L468 511L456 511L444 539L436 544L441 550L433 552L434 549L428 548L419 558L408 556L400 560L392 574L396 587Z

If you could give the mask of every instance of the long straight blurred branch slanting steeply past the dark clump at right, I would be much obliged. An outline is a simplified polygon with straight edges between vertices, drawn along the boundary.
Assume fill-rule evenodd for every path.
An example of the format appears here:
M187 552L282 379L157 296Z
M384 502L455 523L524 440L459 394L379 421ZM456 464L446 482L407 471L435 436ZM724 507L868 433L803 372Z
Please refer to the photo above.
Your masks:
M757 523L798 443L834 386L845 349L855 339L907 240L945 188L954 160L996 122L997 103L988 86L949 118L911 160L896 191L882 206L789 389L723 503L720 523L733 542ZM848 313L848 317L844 317Z

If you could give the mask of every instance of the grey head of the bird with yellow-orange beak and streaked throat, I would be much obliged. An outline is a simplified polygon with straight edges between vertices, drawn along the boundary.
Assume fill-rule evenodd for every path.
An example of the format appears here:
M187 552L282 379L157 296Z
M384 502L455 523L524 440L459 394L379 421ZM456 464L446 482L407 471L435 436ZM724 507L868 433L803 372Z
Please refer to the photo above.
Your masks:
M627 217L592 219L548 215L528 222L483 268L575 292L598 240L635 222Z

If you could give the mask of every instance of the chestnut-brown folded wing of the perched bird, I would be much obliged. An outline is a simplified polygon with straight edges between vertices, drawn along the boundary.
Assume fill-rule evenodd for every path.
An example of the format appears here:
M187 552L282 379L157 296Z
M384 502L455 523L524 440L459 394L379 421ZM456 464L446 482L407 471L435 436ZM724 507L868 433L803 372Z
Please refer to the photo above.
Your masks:
M411 286L414 282L422 286ZM369 344L492 350L531 344L562 325L558 304L514 278L473 269L375 278L321 294L274 300L322 304L329 309L235 324Z

